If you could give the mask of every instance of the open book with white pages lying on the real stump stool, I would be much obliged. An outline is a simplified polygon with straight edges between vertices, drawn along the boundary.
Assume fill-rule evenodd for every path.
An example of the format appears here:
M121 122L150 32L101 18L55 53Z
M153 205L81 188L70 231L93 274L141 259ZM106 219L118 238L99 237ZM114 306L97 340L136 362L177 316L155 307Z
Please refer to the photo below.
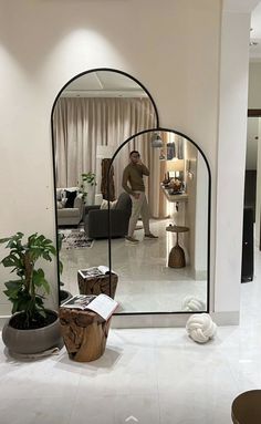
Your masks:
M107 294L87 296L76 294L61 304L62 308L81 309L82 311L88 310L96 312L105 321L115 312L118 307L116 300L109 298Z

